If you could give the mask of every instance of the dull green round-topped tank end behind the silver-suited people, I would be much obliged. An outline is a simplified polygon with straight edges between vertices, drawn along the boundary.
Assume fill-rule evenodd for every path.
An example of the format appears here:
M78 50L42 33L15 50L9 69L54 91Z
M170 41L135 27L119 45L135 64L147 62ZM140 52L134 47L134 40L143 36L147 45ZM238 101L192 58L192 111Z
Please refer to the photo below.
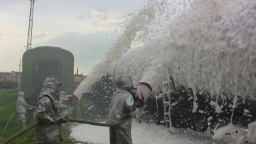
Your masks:
M36 105L46 77L55 76L61 81L60 92L74 92L74 56L60 47L36 47L22 57L21 90L28 104Z

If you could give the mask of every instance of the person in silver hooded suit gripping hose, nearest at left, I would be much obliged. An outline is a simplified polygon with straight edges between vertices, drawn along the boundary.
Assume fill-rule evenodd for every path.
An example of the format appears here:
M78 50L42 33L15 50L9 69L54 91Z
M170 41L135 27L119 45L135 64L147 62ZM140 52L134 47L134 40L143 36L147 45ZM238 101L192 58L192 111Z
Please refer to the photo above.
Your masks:
M36 121L40 125L35 127L37 143L60 143L60 106L58 102L58 88L61 82L56 77L47 77L36 104Z

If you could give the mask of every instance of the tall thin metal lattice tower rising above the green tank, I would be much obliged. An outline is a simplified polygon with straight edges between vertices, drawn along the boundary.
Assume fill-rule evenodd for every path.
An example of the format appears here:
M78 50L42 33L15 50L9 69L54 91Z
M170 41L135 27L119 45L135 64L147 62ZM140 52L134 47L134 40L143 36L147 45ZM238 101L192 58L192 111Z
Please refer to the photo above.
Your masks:
M27 51L31 49L31 42L32 42L32 29L33 29L33 12L34 12L34 2L36 0L30 0L30 14L29 14L29 25L28 25L28 43L27 43Z

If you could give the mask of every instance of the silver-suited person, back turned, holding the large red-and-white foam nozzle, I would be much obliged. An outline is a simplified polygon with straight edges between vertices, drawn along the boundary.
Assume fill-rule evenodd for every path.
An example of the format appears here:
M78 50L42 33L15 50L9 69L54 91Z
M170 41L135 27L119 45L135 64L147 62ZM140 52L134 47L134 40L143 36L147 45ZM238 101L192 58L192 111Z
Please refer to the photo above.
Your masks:
M109 127L111 144L131 144L131 112L135 110L132 77L121 75L116 79L117 90L113 93L107 123L118 122L125 117L130 118L124 124Z

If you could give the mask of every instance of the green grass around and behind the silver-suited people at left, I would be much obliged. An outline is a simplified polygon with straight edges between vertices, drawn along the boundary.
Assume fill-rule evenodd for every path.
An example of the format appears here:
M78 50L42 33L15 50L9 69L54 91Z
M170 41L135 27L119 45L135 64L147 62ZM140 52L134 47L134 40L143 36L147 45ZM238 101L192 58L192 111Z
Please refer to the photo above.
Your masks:
M15 112L16 108L16 100L19 90L0 90L0 143L4 140L10 138L13 134L22 130L22 125L17 123L17 114ZM26 94L26 93L25 93ZM97 111L92 108L93 101L81 98L80 102L74 103L74 111L72 114L72 118L80 118L84 120L100 120L99 116L95 115ZM14 113L14 114L13 114ZM12 116L13 114L13 116ZM10 118L12 116L12 118ZM8 120L10 122L8 123ZM8 127L6 124L8 123ZM34 123L33 120L33 111L28 111L26 115L26 125L31 125ZM61 144L73 144L73 143L81 143L79 141L74 141L69 137L70 134L70 125L74 123L67 123L69 126L61 125L61 136L63 137L63 141ZM78 125L78 124L74 124ZM4 131L4 128L6 130ZM34 144L35 140L33 139L33 129L25 132L15 140L11 141L13 144L22 144L22 143L31 143Z

